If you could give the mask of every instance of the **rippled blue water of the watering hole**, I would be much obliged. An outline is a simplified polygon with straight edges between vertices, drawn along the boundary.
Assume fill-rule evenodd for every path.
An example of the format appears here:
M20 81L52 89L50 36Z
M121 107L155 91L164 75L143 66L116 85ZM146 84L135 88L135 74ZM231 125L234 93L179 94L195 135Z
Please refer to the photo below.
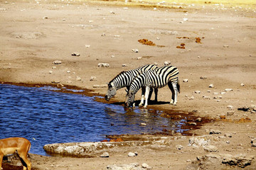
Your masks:
M162 118L161 111L124 109L48 89L0 84L0 139L26 137L30 153L46 155L43 145L50 143L97 142L105 135L161 132L163 127L181 131L182 123Z

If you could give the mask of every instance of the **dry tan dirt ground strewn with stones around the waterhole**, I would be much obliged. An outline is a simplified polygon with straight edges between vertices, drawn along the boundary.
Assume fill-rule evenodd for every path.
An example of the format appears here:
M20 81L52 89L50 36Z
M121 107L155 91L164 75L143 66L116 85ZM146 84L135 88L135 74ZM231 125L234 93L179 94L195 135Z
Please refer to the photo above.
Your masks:
M187 111L211 118L212 122L191 133L202 136L209 135L210 129L220 130L221 134L210 135L210 145L218 147L214 154L255 156L256 148L250 142L256 137L256 113L238 111L256 105L255 4L250 7L207 3L154 9L113 6L106 1L1 0L0 81L60 82L104 95L106 87L93 85L105 85L123 70L155 62L162 66L170 61L180 72L178 105L155 104L148 108ZM138 42L144 38L156 45ZM177 48L181 43L185 49ZM73 56L73 52L80 56ZM62 63L53 64L55 60ZM98 63L108 63L110 67L98 67ZM92 76L96 81L90 81ZM124 96L124 89L120 89L109 103L123 102ZM170 98L168 87L159 89L159 101L168 102ZM109 158L31 154L30 160L33 169L107 169L108 164L134 162L145 162L153 169L240 169L221 162L198 165L196 157L208 152L203 147L189 147L189 138L174 140L168 147L112 150ZM183 149L176 149L176 145ZM128 152L138 152L138 156L127 157ZM7 166L9 163L4 162L4 168ZM255 169L255 159L244 169Z

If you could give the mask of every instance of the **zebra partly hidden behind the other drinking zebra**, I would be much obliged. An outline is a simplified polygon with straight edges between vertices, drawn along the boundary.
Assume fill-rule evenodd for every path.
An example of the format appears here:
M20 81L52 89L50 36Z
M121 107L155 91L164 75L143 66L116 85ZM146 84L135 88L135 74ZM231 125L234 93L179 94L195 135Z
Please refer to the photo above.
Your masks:
M142 74L148 70L156 69L155 64L146 64L137 69L131 69L129 71L120 72L114 79L108 83L107 94L105 95L105 100L109 101L114 95L117 94L117 90L123 87L129 89L132 80L139 74ZM142 89L142 99L144 98L145 88ZM157 90L155 91L155 101L157 101Z

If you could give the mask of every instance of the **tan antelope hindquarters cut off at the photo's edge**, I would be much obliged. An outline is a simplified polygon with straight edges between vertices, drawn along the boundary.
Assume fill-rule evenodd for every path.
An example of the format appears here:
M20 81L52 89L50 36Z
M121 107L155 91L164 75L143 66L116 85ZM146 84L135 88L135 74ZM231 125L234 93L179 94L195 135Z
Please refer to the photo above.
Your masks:
M27 154L31 148L31 142L23 137L10 137L0 140L0 168L2 169L2 161L4 156L18 154L23 170L31 170L31 162L28 161Z

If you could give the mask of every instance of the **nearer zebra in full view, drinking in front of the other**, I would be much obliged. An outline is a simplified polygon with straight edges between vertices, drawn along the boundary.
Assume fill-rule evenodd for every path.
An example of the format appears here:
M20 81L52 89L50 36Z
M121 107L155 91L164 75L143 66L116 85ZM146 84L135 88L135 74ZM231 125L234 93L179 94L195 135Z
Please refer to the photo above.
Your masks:
M174 104L175 106L177 103L177 94L180 93L180 84L178 82L178 69L174 66L159 67L135 77L127 91L125 106L132 106L132 104L135 106L135 94L140 88L144 87L146 88L144 108L146 108L148 105L147 98L149 96L149 89L159 89L167 84L172 93L170 104ZM143 103L144 101L142 99L141 103L139 103L139 107L142 106Z

